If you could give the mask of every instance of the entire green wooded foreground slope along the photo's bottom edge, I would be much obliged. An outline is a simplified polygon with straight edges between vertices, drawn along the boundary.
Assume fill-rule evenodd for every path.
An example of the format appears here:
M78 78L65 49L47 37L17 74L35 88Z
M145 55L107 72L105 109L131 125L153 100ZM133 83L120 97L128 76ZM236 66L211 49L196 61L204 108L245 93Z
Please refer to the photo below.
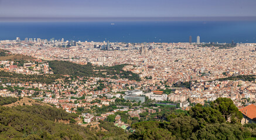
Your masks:
M1 104L18 101L0 97ZM256 124L241 125L243 115L233 101L219 98L210 106L196 104L187 113L169 112L158 121L132 125L133 134L100 121L100 129L76 124L77 114L56 107L0 106L0 139L255 139ZM60 123L68 121L69 124ZM229 121L228 121L229 120ZM90 127L90 125L88 125ZM103 131L104 130L104 131Z

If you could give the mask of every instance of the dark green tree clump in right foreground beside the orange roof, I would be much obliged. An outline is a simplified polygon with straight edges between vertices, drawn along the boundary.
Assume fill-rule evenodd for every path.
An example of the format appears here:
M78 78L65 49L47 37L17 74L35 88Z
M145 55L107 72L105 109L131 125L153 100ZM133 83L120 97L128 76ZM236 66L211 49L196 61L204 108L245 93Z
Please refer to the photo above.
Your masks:
M189 110L164 114L165 120L144 121L132 125L136 129L130 139L246 139L256 134L256 125L241 125L241 113L233 101L219 98L211 106L196 104ZM243 117L243 116L242 116ZM231 118L231 123L227 122ZM233 123L233 124L232 124Z

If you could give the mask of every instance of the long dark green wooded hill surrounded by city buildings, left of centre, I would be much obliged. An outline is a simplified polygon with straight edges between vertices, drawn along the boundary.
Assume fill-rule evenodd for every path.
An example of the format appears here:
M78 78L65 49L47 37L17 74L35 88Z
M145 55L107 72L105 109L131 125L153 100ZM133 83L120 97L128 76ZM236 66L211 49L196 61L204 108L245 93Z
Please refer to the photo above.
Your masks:
M113 67L96 67L88 63L87 65L75 64L69 61L49 61L49 67L54 74L70 76L88 76L101 78L124 78L134 81L140 81L138 74L131 71L124 71L125 64L115 65Z

